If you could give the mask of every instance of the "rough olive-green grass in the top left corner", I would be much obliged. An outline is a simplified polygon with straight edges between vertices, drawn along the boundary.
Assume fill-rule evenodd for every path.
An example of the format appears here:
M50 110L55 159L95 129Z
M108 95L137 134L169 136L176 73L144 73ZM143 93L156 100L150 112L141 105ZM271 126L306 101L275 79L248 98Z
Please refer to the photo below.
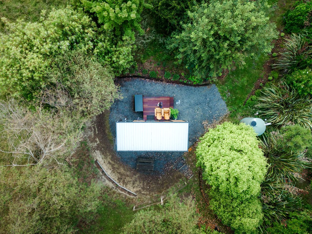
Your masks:
M40 18L42 10L51 10L52 7L64 7L70 0L2 0L0 1L0 18L5 17L11 21L23 18L35 22ZM0 23L0 31L3 24Z

